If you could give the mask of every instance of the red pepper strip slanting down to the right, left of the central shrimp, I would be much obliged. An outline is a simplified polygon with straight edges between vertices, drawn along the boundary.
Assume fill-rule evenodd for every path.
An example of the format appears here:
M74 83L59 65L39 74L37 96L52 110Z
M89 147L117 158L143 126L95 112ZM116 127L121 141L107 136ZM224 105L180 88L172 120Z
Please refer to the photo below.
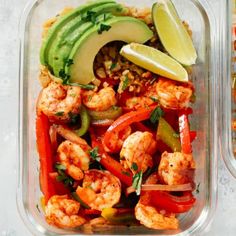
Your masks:
M131 186L133 181L133 175L130 171L127 171L118 161L110 157L104 150L101 140L98 140L93 131L90 130L92 147L98 147L99 155L101 156L100 164L115 175L123 184Z

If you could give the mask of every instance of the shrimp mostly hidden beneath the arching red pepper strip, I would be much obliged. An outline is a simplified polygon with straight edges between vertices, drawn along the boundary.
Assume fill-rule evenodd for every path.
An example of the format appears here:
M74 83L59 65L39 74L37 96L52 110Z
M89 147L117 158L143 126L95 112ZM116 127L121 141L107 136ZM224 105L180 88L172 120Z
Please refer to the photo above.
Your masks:
M112 138L109 140L109 148L104 145L105 151L107 152L112 152L112 153L117 153L121 150L122 145L125 141L126 138L131 134L131 127L127 126L125 129L123 129L119 133L114 133L112 135Z

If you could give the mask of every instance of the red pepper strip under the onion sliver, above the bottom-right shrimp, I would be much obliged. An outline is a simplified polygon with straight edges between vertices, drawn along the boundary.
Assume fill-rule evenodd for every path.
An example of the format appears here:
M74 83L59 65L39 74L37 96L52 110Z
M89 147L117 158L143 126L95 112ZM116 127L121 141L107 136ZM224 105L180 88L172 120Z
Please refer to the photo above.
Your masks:
M196 199L192 193L185 193L184 196L177 197L162 191L151 191L151 204L160 210L172 213L184 213L189 211Z

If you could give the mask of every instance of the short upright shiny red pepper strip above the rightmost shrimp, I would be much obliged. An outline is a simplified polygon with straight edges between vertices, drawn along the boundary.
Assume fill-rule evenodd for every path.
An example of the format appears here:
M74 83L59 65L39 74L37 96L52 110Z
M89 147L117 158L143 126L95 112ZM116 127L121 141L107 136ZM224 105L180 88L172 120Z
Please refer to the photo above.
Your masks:
M191 154L192 146L191 146L191 138L190 138L188 113L186 111L179 112L179 133L180 133L180 142L181 142L182 152L185 154Z

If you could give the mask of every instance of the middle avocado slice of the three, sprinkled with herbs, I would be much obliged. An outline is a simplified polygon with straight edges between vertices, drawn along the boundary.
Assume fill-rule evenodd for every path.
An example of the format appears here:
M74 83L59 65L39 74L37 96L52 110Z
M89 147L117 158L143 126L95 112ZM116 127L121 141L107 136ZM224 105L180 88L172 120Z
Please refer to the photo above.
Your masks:
M91 11L85 13L85 16L77 16L66 24L57 34L49 50L49 66L53 69L55 76L59 76L59 72L64 69L65 63L75 42L81 35L99 20L109 18L109 14L120 15L125 12L125 8L117 3L107 3L98 7L91 8ZM89 15L88 15L89 14ZM98 18L99 15L103 14ZM89 16L89 22L83 18ZM92 18L92 19L91 19Z

